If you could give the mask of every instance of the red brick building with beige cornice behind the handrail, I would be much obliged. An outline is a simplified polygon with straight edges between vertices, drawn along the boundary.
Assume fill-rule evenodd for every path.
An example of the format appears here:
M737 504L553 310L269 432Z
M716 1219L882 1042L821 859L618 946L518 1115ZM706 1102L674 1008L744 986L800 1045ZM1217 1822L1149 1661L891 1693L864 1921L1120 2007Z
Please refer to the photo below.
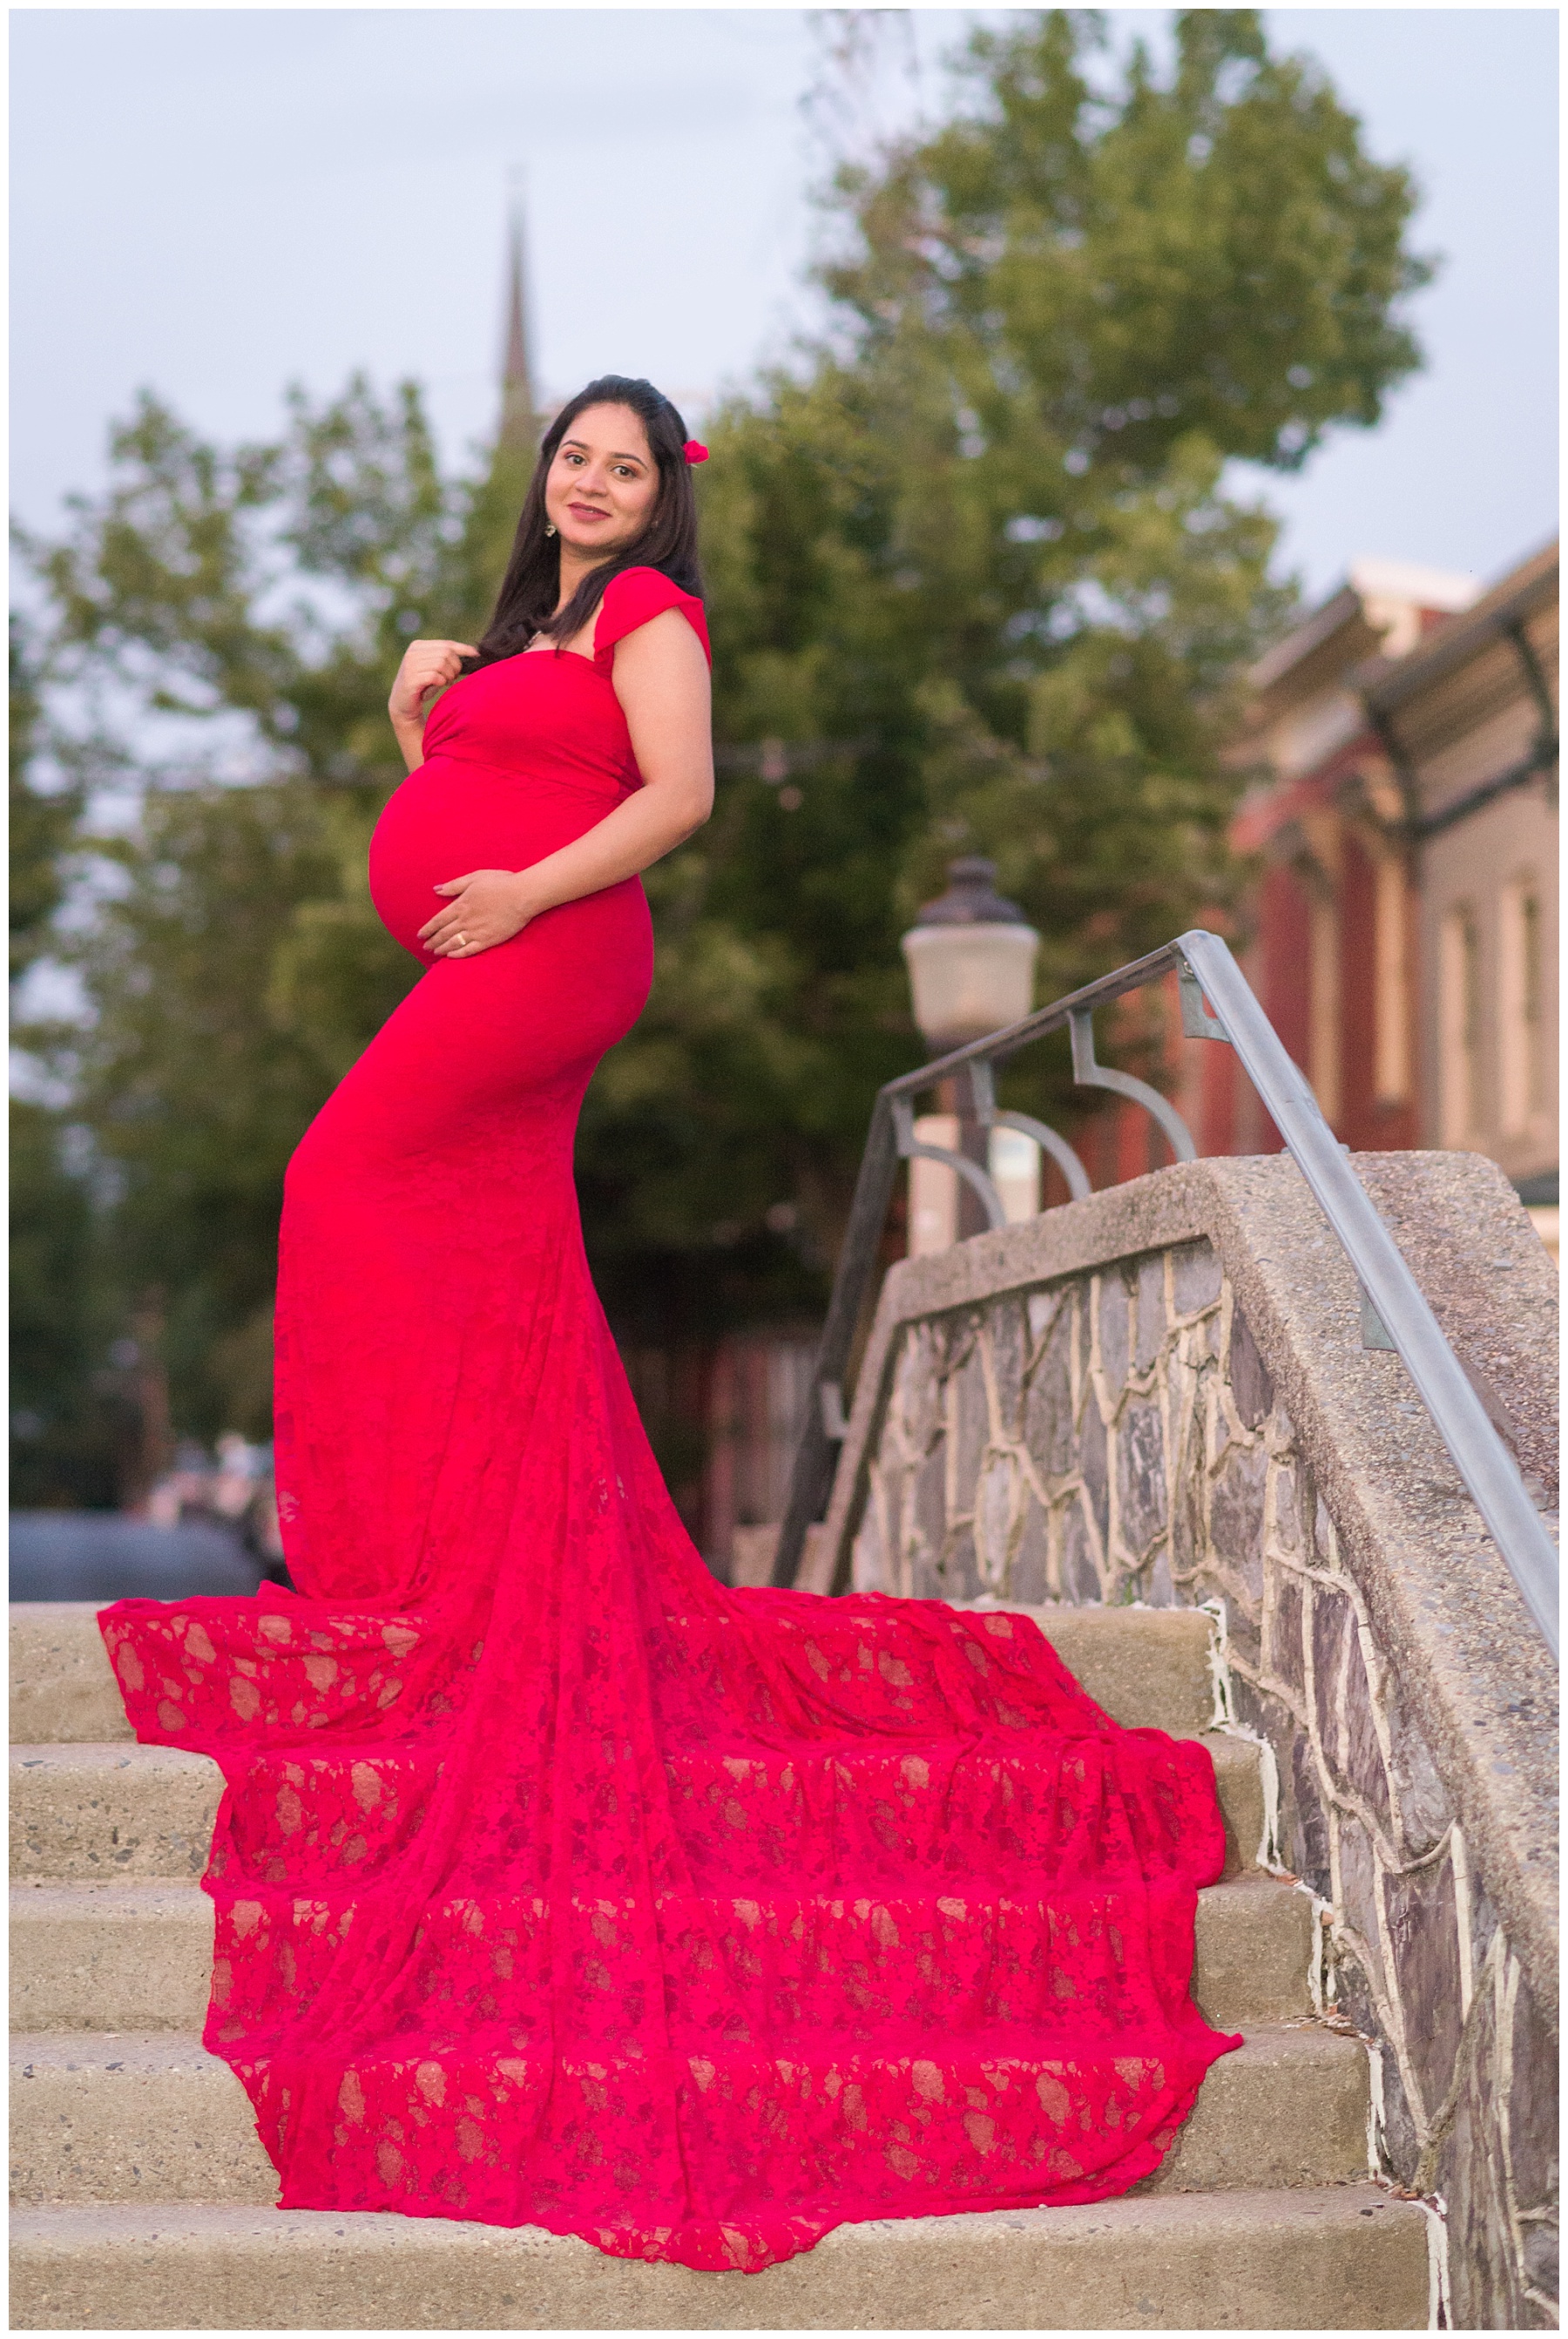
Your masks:
M1250 685L1252 987L1353 1151L1488 1153L1554 1240L1556 545L1488 592L1360 561ZM1187 1081L1201 1153L1278 1144Z

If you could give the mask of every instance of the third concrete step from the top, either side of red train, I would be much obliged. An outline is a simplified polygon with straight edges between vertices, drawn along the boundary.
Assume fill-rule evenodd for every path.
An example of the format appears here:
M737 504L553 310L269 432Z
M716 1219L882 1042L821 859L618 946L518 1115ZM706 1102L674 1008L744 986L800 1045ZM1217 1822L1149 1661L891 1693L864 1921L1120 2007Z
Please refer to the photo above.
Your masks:
M1313 1906L1268 1878L1198 1895L1194 1998L1222 2030L1311 2012ZM16 2030L199 2030L213 1904L194 1883L12 1890Z

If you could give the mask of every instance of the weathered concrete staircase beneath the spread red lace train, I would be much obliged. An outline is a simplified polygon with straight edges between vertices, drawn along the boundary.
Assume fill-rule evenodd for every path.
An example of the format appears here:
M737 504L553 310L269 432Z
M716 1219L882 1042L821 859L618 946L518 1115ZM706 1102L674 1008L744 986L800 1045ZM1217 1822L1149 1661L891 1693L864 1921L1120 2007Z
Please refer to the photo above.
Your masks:
M1423 2330L1425 2215L1367 2180L1367 2056L1313 2019L1308 1897L1257 1867L1259 1750L1208 1731L1208 1619L1039 1621L1119 1722L1205 1733L1229 1864L1194 1990L1247 2044L1135 2194L840 2227L740 2276L271 2208L246 2096L201 2049L218 1768L129 1740L91 1607L14 1607L12 2327Z

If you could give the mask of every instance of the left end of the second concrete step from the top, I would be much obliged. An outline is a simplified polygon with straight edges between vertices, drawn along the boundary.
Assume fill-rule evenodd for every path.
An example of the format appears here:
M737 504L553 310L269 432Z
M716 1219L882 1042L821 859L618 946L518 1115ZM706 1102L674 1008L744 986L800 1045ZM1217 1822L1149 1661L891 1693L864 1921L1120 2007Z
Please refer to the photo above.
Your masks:
M12 1747L12 1876L201 1876L222 1773L138 1745Z

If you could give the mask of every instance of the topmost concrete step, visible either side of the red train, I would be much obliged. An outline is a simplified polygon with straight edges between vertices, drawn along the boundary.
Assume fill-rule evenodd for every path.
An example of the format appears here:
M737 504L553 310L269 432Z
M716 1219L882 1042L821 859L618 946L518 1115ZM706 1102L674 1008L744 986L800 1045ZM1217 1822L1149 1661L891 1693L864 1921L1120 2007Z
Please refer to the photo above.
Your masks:
M1128 1729L1191 1738L1215 1710L1210 1621L1196 1609L1048 1609L1032 1616L1091 1698ZM89 1600L12 1605L12 1738L122 1740L131 1726Z

